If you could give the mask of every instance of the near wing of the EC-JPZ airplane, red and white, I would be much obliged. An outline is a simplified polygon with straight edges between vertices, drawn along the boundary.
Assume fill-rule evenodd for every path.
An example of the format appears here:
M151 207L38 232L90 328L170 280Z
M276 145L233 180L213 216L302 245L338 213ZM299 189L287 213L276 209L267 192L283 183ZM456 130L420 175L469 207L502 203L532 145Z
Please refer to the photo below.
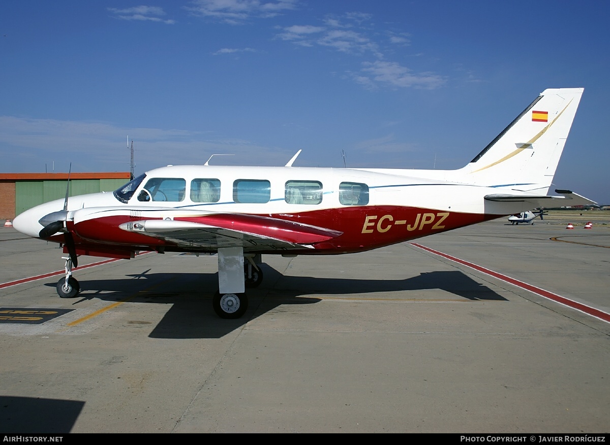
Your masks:
M314 244L342 234L317 226L245 214L138 220L119 227L181 247L210 251L221 247L243 247L244 251L314 248Z

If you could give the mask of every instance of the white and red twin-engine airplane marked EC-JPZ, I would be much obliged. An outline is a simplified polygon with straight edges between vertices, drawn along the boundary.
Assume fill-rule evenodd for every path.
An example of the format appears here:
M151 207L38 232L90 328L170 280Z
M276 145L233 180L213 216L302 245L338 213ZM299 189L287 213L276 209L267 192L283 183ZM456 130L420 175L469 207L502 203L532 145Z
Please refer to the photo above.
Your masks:
M71 272L79 255L218 253L213 309L239 318L245 287L262 281L262 254L362 252L550 201L591 203L567 190L547 195L582 93L545 90L458 170L293 167L298 153L284 167L167 166L113 193L66 193L13 226L63 245L62 298L79 292Z

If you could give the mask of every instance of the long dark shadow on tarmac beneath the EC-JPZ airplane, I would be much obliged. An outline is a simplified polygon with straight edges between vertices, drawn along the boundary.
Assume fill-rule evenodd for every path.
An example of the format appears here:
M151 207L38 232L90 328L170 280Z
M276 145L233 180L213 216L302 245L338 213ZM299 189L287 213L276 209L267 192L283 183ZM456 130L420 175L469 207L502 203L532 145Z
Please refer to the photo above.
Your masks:
M321 299L315 295L348 298L350 294L439 289L473 301L506 301L489 287L459 271L425 272L410 278L378 280L285 276L269 265L263 265L263 268L265 279L260 287L246 289L248 312L238 320L223 320L212 310L212 296L218 289L217 273L148 273L146 270L137 275L126 275L126 278L83 280L80 282L81 293L73 304L78 306L80 302L93 298L112 302L129 298L130 303L171 304L150 337L220 338L278 306L318 303ZM409 299L408 295L401 296ZM148 324L138 320L128 323Z

